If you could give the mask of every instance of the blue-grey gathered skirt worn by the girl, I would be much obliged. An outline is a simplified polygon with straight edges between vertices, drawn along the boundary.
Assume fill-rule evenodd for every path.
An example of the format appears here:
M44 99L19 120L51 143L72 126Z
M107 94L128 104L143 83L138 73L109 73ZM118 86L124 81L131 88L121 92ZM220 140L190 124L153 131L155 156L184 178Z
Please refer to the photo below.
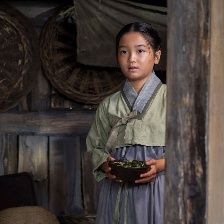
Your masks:
M165 147L135 145L112 150L111 156L127 160L165 158ZM97 209L97 224L163 224L164 172L154 182L135 184L103 180Z

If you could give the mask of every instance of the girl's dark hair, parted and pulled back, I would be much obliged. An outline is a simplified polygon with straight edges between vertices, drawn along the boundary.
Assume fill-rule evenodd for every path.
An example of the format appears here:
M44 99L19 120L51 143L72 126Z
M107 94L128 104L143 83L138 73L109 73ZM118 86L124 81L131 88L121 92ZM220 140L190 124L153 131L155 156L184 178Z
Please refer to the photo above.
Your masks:
M162 41L158 34L158 31L149 23L135 22L135 23L129 23L125 25L117 34L116 53L118 51L118 46L119 46L121 37L130 32L141 33L143 37L149 42L154 52L161 50Z

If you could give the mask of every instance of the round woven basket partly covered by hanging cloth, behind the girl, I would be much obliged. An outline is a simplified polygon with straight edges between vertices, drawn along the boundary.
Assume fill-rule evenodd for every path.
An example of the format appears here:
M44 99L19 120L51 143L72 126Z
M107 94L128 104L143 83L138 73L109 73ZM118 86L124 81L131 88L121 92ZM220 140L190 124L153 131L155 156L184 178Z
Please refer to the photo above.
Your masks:
M42 66L47 78L62 94L84 104L99 104L119 90L125 79L118 68L77 63L74 10L74 6L67 6L44 25L40 37Z

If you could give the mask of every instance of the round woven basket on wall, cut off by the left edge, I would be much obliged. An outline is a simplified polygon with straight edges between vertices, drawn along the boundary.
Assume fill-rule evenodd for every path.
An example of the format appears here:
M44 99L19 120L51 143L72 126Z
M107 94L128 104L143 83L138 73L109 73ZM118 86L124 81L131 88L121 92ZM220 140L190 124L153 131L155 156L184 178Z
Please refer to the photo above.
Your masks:
M16 106L33 88L40 68L38 37L25 16L0 4L0 110Z

